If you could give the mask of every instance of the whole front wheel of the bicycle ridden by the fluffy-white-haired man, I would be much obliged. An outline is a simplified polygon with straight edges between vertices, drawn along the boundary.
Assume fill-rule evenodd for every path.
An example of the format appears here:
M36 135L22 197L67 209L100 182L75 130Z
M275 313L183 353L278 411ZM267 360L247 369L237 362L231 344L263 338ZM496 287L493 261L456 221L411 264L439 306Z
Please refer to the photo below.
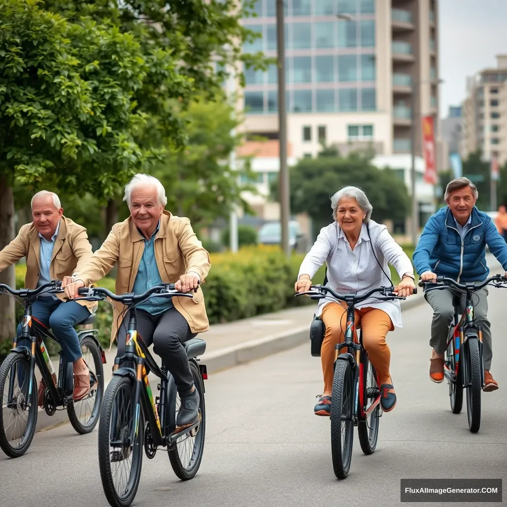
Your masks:
M130 430L135 416L132 380L113 375L100 411L98 463L105 496L114 507L130 505L139 486L144 441L142 410L137 436L131 442Z

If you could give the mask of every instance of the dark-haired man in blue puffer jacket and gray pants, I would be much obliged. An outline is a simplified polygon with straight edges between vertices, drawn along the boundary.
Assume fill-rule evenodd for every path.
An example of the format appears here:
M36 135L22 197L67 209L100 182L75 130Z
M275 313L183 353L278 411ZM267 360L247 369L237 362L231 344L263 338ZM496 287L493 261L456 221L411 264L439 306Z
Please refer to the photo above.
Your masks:
M423 281L435 281L437 276L453 278L458 283L484 281L489 275L486 266L486 245L502 265L507 276L507 243L498 233L495 224L475 206L479 192L468 178L453 179L446 188L447 206L431 216L424 226L413 261ZM429 378L440 383L444 380L444 352L454 318L452 305L456 289L430 291L424 295L433 308ZM459 311L464 311L465 295L461 296ZM474 298L477 324L482 325L485 386L484 391L498 389L490 373L491 327L487 319L488 289L482 288Z

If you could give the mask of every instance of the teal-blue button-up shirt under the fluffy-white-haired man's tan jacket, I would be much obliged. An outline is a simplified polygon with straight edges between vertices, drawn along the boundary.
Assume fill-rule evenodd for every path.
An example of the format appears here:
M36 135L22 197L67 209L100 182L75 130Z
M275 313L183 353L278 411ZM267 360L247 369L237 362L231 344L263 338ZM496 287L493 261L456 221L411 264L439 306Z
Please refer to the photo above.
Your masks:
M134 280L134 286L132 287L135 294L142 294L154 285L163 283L158 270L157 261L155 259L155 235L159 231L159 228L160 220L157 225L157 229L152 234L152 237L150 239L146 239L143 236L142 238L144 241L144 251L142 252L141 261ZM153 297L144 301L144 303L138 305L136 308L145 310L152 315L157 315L165 312L172 306L173 304L170 298Z

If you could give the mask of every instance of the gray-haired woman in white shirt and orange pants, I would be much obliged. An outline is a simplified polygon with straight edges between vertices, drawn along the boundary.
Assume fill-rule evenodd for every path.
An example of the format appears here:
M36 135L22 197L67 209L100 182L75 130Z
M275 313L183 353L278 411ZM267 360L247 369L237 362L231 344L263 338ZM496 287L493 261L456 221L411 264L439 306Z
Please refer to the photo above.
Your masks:
M325 262L328 286L339 293L364 294L374 287L390 284L386 273L389 263L401 279L396 294L412 295L415 288L412 263L386 226L371 220L373 207L366 194L357 187L343 187L331 198L331 207L335 222L321 229L301 263L296 292L308 291L312 277ZM321 299L317 308L325 327L320 354L324 391L314 410L316 415L329 416L335 345L345 340L347 307L329 296ZM402 327L399 300L379 301L372 297L357 304L355 311L356 322L363 330L363 345L377 371L382 410L389 412L396 404L396 394L389 373L391 352L385 339L394 327Z

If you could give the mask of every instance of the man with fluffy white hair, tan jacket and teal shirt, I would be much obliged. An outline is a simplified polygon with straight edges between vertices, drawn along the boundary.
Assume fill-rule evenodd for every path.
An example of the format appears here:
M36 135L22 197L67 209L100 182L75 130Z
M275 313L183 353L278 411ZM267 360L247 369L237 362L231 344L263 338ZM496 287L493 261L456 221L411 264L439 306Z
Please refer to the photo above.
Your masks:
M159 283L175 283L176 289L193 298L153 297L136 307L137 331L147 345L160 355L174 377L181 408L176 424L188 426L198 420L199 393L182 342L209 329L204 297L199 287L210 268L208 252L197 239L190 221L164 210L165 190L157 178L137 174L125 186L124 200L130 216L115 224L102 246L84 266L75 282L65 287L69 298L78 289L95 283L117 264L116 294L142 294ZM119 325L123 305L115 304L111 343L118 340L117 357L125 353L129 311Z

